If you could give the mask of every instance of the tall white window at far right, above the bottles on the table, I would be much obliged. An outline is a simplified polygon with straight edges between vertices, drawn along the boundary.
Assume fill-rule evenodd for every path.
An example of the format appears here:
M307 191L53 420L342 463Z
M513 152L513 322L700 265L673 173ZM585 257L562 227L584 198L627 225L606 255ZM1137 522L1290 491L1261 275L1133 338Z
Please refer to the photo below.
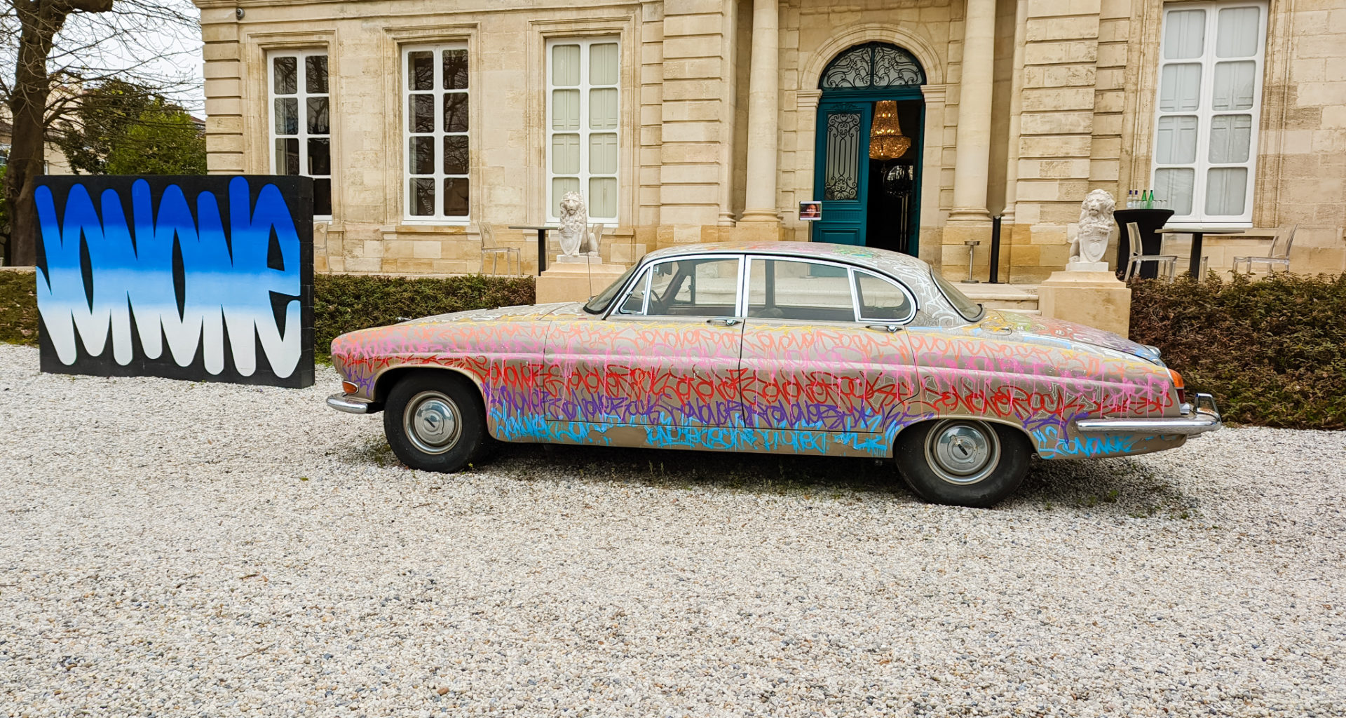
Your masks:
M1174 220L1252 221L1267 7L1164 8L1155 124L1155 195Z

